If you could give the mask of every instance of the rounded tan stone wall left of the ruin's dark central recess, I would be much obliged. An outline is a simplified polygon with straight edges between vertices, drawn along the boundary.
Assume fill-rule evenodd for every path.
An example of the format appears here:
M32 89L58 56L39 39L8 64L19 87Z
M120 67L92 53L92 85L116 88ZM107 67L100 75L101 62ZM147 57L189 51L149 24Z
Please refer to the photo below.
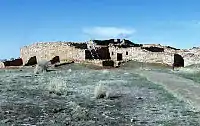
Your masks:
M20 49L20 57L23 60L23 64L27 63L33 56L36 56L37 62L41 60L49 61L55 56L59 56L60 61L82 61L85 60L85 50L75 48L67 42L35 43Z

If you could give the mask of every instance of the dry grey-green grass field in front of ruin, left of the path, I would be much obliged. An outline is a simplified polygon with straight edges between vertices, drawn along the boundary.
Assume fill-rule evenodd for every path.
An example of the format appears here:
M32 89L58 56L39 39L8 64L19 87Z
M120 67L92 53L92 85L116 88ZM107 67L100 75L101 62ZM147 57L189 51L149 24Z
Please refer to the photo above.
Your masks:
M200 125L200 113L134 72L77 64L37 76L32 69L0 71L0 125ZM95 99L99 83L116 97Z

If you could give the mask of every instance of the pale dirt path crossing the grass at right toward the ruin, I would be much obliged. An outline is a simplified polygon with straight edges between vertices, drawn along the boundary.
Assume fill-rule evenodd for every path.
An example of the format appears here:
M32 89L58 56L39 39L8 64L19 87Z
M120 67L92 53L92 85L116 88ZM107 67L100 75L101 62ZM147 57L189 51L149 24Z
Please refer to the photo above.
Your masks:
M187 102L195 110L200 111L199 83L168 73L142 71L140 75L153 83L162 85L175 97Z

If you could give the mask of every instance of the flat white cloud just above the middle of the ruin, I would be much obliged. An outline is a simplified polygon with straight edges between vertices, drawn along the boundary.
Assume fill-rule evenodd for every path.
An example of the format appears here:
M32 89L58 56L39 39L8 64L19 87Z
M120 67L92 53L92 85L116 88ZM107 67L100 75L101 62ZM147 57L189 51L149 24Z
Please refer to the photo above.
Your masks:
M131 28L119 27L92 27L83 28L83 32L92 38L128 38L136 31Z

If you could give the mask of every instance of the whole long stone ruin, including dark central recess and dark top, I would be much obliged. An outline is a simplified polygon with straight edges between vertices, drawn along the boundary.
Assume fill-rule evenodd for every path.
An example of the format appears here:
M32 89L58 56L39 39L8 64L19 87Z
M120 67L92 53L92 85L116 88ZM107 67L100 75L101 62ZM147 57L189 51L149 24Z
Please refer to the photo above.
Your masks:
M37 61L44 59L50 61L55 56L59 56L61 62L67 60L79 63L88 60L91 63L102 65L102 61L99 60L111 59L116 62L117 54L122 54L122 61L134 60L172 66L174 54L179 54L184 59L184 66L188 66L200 63L199 50L199 48L181 50L160 44L138 45L125 40L120 42L118 39L112 39L80 44L69 42L36 43L21 48L21 58L24 64L33 56L36 56Z

